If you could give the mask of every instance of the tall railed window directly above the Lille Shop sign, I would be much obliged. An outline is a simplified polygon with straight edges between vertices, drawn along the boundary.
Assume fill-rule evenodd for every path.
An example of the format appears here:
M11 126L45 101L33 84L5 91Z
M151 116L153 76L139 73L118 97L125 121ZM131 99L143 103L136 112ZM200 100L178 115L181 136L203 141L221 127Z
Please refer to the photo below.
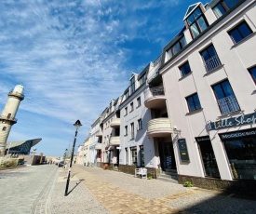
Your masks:
M236 96L228 80L212 87L222 114L240 111Z

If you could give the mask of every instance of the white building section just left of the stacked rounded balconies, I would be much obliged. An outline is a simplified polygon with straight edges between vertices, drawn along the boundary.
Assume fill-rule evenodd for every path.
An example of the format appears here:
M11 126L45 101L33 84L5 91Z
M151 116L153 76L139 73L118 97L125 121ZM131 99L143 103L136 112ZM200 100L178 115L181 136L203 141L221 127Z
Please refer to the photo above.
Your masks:
M120 109L120 161L118 168L134 173L136 167L155 167L153 140L146 135L146 124L151 118L144 106L144 90L149 66L141 74L131 74L129 87L122 97Z

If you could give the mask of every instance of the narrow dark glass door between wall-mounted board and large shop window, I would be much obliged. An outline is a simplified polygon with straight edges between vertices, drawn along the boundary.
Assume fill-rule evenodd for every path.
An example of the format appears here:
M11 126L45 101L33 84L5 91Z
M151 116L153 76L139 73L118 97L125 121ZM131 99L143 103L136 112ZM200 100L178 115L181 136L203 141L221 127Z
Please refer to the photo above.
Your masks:
M206 176L221 178L210 140L199 141L197 143L201 152Z

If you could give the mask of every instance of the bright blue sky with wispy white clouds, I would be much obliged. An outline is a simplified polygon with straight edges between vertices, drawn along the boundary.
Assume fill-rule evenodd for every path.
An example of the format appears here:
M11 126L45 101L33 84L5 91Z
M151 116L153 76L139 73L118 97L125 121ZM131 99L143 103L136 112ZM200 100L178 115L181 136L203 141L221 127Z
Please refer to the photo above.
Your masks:
M208 1L201 1L203 4ZM0 111L25 87L8 141L42 138L38 153L76 145L131 73L155 60L183 27L193 0L7 0L0 2Z

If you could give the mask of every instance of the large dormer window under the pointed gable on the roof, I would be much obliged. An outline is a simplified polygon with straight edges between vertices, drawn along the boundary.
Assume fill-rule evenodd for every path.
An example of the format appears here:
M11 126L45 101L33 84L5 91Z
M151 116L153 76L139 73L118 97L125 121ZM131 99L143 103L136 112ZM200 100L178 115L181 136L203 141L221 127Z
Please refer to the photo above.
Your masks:
M205 31L209 26L200 7L195 9L195 11L187 18L186 22L193 38Z

